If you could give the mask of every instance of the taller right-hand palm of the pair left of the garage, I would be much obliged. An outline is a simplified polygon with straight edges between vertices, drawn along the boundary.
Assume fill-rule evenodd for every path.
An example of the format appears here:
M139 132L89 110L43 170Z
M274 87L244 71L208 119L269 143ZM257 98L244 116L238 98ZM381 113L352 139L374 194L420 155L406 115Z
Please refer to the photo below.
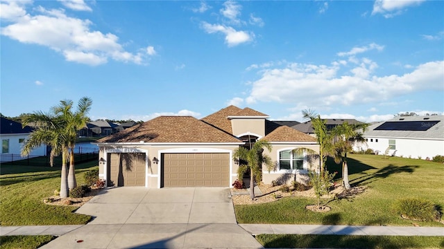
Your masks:
M74 168L74 148L76 147L77 132L87 124L88 117L86 115L91 109L92 100L87 97L81 98L78 101L75 113L71 111L73 104L72 100L61 100L58 106L52 108L53 113L62 116L66 122L65 129L68 136L67 146L69 148L69 190L77 187L76 172Z

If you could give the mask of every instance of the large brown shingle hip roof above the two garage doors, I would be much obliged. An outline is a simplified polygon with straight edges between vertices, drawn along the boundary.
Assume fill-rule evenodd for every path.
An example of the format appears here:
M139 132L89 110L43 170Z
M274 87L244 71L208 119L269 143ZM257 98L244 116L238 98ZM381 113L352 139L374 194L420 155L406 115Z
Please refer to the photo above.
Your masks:
M160 116L97 142L241 142L190 116Z

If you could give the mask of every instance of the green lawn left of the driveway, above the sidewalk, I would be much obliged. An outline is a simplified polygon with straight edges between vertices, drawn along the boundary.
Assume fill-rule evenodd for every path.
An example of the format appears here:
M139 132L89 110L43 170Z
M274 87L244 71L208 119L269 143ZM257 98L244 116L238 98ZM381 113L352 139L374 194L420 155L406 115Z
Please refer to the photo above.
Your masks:
M78 185L96 162L76 165ZM60 167L0 165L0 225L78 225L90 216L76 207L46 205L43 199L60 187Z

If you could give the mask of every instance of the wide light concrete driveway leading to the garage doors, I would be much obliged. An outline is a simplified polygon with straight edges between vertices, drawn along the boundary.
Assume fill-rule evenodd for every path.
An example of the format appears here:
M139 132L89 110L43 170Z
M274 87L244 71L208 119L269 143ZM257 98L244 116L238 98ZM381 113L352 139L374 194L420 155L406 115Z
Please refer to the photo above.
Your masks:
M225 187L116 187L76 212L95 218L42 248L262 248Z

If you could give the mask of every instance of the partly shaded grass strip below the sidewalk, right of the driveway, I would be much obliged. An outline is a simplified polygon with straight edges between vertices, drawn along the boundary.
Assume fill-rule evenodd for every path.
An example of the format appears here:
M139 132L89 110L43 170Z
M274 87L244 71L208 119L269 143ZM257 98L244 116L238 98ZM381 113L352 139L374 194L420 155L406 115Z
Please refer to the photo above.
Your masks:
M259 234L264 248L444 248L444 237Z

